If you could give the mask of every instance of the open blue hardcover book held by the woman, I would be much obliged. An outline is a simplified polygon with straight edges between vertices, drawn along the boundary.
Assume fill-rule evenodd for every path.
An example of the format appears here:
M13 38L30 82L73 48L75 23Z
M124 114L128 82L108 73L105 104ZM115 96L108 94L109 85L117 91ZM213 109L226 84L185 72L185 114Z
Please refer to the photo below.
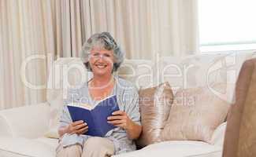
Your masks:
M104 137L109 130L113 130L117 126L113 126L107 122L107 117L112 115L113 111L118 111L117 96L113 95L100 100L94 108L88 104L68 104L69 113L72 121L83 120L87 122L88 131L84 133L93 137Z

